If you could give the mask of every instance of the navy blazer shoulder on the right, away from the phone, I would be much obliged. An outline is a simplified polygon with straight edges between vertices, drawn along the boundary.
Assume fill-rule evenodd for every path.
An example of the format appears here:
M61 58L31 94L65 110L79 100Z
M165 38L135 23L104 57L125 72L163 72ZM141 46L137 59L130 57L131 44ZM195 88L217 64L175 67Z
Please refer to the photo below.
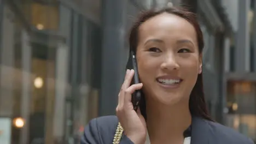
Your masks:
M220 140L219 143L248 143L254 142L243 134L238 133L236 130L226 127L217 122L206 121L210 126L210 131L213 135L213 139Z

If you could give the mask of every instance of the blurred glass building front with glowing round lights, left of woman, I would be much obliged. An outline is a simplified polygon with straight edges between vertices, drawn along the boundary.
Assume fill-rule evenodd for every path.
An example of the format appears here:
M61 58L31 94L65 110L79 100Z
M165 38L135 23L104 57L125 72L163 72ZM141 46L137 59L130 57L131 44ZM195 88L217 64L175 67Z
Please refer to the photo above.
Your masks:
M101 27L57 1L13 2L0 20L0 123L11 143L79 143L98 116Z

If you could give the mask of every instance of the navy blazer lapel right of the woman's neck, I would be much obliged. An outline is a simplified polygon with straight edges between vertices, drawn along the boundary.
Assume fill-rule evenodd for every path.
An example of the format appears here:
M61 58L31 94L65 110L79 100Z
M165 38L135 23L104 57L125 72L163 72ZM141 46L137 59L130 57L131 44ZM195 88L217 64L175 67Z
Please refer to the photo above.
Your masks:
M207 122L199 117L192 118L191 144L208 144L210 129Z

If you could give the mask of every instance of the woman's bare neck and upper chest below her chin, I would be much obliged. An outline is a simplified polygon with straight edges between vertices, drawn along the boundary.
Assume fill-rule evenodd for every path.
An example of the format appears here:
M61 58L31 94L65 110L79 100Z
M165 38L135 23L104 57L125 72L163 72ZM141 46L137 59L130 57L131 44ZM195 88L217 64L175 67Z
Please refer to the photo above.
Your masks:
M150 103L147 100L147 128L151 143L179 143L191 124L188 101L176 105Z

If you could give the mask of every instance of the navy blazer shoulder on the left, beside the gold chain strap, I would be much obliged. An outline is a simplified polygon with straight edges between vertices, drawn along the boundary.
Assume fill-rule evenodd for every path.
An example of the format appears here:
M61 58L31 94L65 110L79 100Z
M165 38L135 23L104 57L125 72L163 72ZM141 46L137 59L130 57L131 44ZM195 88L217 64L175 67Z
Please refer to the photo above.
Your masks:
M84 129L81 143L112 143L117 125L117 116L91 119Z

